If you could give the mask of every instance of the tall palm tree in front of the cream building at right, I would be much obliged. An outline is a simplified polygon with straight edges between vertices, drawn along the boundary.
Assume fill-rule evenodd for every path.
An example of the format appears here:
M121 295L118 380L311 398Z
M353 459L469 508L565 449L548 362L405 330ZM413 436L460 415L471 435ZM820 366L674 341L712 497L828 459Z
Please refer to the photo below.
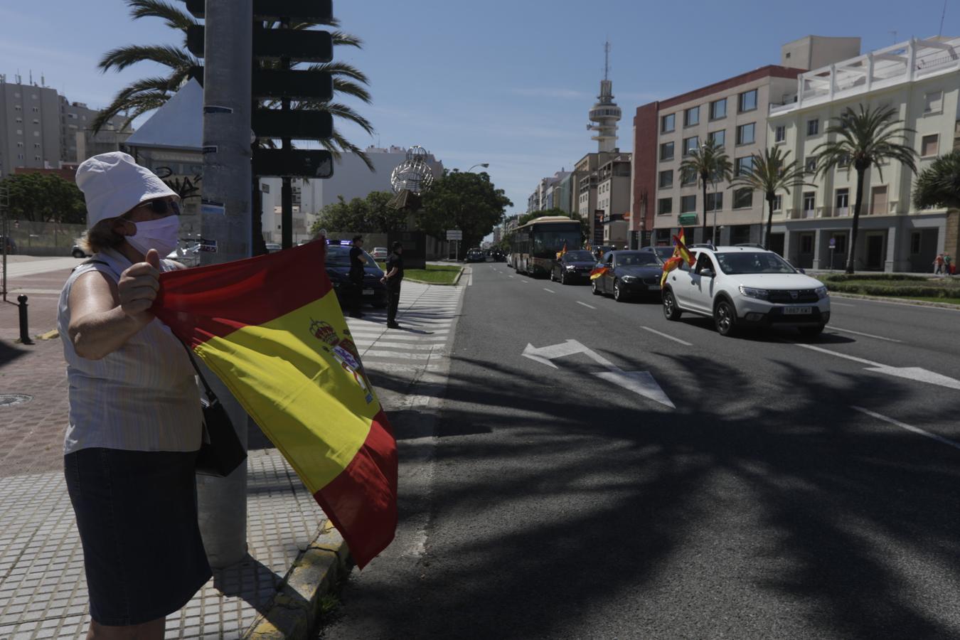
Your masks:
M859 106L859 111L847 107L827 128L828 136L834 139L818 145L813 150L817 155L817 175L824 176L834 167L846 167L856 170L856 200L853 203L853 221L850 234L850 253L847 258L847 273L853 273L856 256L856 232L860 225L860 210L863 205L863 181L870 167L876 165L879 178L883 179L883 163L888 160L899 161L917 173L917 152L895 138L906 141L906 133L915 132L903 127L902 120L895 120L897 109L894 107Z

